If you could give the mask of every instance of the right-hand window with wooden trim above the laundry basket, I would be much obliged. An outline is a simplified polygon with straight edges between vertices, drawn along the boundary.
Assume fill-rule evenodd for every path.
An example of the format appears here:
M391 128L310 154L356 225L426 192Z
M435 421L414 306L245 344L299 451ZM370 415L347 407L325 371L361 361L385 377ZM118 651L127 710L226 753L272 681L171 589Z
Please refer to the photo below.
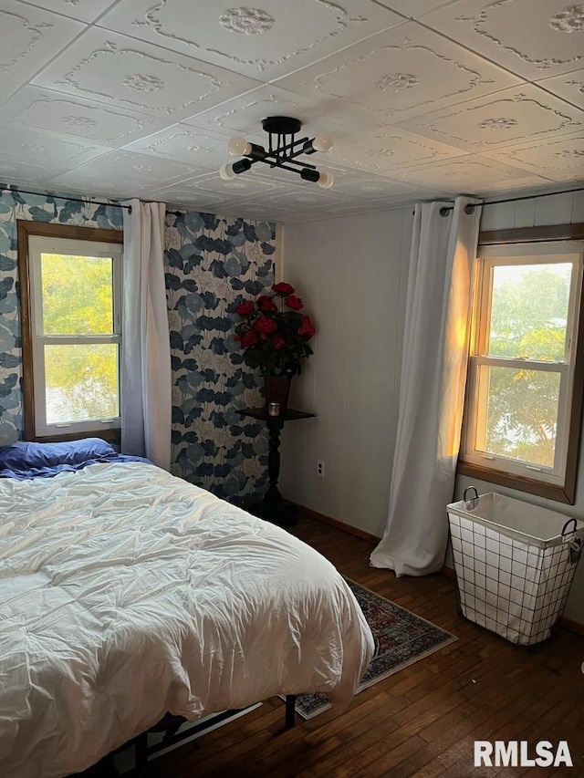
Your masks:
M573 503L583 252L479 244L459 472Z

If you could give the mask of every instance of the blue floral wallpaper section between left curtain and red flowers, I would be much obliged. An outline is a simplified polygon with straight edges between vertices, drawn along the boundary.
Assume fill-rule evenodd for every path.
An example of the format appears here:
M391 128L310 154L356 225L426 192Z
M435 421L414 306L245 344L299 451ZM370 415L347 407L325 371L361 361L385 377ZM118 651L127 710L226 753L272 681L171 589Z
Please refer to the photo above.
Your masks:
M235 308L274 283L273 224L167 213L166 289L172 355L172 472L220 497L263 491L261 379L235 342Z

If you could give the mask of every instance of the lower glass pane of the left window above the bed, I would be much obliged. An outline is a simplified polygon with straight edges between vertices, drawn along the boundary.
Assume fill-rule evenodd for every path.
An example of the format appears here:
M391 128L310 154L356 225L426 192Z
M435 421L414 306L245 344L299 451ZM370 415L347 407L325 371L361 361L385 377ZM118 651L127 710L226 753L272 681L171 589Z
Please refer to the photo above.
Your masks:
M47 424L120 415L118 344L46 346Z

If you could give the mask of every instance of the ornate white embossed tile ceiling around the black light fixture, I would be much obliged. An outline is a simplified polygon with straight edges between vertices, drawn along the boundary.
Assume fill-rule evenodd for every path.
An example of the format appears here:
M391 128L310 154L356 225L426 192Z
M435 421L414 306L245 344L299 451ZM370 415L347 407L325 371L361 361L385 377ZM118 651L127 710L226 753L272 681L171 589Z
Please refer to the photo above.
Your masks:
M287 222L584 179L566 0L0 0L0 41L8 183ZM271 115L332 133L332 189L219 178Z

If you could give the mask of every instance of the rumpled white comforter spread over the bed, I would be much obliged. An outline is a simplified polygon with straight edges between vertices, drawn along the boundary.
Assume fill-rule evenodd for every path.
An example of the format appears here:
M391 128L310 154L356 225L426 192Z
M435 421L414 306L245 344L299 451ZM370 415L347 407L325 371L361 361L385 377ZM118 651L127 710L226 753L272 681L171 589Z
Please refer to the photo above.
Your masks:
M277 527L139 462L0 480L0 775L85 769L166 711L351 698L349 586Z

